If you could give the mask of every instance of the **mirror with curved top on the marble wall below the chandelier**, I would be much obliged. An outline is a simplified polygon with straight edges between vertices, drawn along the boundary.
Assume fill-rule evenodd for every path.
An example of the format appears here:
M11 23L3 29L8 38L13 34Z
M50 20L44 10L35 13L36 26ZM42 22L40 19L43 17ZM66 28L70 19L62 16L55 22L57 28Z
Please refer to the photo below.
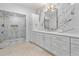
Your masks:
M45 12L44 16L44 29L47 29L49 31L53 31L57 29L57 9L54 11L47 11Z

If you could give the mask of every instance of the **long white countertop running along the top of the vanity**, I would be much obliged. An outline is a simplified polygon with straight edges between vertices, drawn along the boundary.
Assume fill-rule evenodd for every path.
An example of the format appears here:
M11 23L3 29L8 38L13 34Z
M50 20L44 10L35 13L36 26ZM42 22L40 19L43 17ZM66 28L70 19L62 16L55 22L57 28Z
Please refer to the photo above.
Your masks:
M41 31L41 30L33 30L33 32L61 35L61 36L67 36L67 37L71 37L71 38L79 38L79 32L78 33L66 33L66 32L53 32L53 31L49 32L49 31Z

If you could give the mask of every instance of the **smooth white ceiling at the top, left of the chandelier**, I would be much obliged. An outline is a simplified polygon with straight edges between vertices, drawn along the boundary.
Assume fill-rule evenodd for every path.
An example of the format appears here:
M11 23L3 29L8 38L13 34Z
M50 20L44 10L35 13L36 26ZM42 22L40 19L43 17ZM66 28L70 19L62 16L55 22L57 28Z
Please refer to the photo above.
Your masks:
M18 3L18 5L23 6L25 8L37 10L37 9L43 7L45 4L43 4L43 3Z

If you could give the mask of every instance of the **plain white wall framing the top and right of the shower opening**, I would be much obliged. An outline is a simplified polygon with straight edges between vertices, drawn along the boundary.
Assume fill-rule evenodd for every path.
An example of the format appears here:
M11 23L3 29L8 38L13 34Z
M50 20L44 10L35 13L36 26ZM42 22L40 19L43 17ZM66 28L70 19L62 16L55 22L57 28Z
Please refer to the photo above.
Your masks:
M30 16L32 13L34 13L35 11L28 9L28 8L24 8L22 6L19 6L17 4L3 4L0 3L0 10L5 10L5 11L10 11L10 12L15 12L15 13L20 13L20 14L24 14L26 15L26 41L29 40L29 32L30 32L30 25L29 25L29 20L30 20Z

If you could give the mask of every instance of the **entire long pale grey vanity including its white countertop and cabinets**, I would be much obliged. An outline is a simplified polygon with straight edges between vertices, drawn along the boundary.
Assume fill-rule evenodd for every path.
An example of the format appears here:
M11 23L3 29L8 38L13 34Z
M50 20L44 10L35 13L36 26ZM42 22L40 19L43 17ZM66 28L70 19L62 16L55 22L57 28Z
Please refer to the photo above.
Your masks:
M79 36L69 33L32 31L31 42L57 56L78 56Z

